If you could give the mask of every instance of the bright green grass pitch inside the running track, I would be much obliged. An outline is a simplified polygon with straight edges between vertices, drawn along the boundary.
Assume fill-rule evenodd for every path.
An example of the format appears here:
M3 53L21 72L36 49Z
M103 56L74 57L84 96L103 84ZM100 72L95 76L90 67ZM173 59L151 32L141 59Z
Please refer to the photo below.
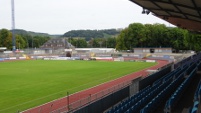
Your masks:
M16 113L156 63L30 60L0 63L0 113Z

